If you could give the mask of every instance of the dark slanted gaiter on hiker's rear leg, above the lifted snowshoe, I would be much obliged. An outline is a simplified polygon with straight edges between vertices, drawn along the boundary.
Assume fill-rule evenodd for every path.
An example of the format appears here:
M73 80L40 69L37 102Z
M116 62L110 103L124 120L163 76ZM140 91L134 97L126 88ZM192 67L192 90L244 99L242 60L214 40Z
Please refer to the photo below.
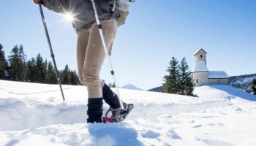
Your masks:
M118 96L108 87L108 85L104 85L102 88L102 93L103 99L108 105L110 105L111 108L118 109L121 107Z

